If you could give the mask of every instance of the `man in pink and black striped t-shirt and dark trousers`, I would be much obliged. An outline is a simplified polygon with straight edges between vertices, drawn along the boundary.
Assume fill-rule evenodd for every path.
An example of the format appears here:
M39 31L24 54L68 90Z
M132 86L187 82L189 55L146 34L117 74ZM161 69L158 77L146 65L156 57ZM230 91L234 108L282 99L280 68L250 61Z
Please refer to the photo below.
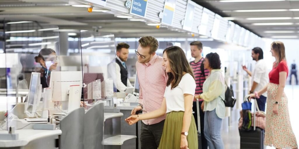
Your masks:
M190 62L190 66L193 69L195 82L196 82L196 89L195 89L195 95L202 94L202 86L205 80L208 78L209 70L204 69L203 61L204 57L202 57L202 43L200 41L193 41L190 43L190 50L191 50L191 56L195 58L195 60ZM200 116L200 129L201 132L204 132L205 127L205 113L203 112L203 105L204 102L202 99L199 99L199 105L201 105L202 108L199 108L199 116ZM196 108L196 101L193 101L193 107L192 110L194 111L193 116L196 119L195 123L197 124L197 108ZM205 139L205 134L201 134L202 137L202 149L208 148L207 139Z

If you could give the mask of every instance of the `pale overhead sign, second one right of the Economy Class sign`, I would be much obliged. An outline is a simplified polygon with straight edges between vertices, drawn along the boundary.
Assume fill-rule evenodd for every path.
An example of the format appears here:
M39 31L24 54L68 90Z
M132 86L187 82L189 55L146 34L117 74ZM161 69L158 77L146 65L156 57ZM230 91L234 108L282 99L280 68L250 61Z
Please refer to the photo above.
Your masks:
M188 30L188 31L192 30L195 6L196 6L195 2L193 2L191 0L188 0L187 10L186 10L185 19L184 19L183 30Z

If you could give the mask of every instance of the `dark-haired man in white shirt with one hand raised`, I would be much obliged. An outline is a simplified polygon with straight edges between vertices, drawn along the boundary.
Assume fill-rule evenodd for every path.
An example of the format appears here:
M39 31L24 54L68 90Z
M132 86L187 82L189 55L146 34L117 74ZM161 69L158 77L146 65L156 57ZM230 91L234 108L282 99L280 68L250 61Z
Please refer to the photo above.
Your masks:
M253 60L257 61L253 72L251 73L246 66L243 66L243 69L252 77L252 85L249 94L254 93L254 91L260 91L269 83L269 74L267 71L266 62L263 59L263 50L260 47L253 48L251 51L251 57ZM267 92L262 94L257 100L257 105L260 111L265 111L266 99Z

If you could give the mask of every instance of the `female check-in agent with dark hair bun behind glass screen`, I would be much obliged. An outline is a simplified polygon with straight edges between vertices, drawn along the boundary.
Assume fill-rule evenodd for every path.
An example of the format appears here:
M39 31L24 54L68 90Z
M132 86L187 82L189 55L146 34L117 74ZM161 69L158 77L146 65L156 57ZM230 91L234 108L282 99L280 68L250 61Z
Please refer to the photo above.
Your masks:
M50 75L52 70L57 68L57 55L53 49L43 48L39 51L39 55L34 57L36 63L40 63L42 68L40 69L40 82L42 88L49 87Z

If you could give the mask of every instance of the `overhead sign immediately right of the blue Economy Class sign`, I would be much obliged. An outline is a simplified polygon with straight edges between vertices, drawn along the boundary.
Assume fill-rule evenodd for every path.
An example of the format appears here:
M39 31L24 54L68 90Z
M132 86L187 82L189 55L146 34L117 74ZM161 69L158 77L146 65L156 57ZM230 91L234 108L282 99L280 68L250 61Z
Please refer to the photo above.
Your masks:
M172 25L176 0L165 0L161 23Z

